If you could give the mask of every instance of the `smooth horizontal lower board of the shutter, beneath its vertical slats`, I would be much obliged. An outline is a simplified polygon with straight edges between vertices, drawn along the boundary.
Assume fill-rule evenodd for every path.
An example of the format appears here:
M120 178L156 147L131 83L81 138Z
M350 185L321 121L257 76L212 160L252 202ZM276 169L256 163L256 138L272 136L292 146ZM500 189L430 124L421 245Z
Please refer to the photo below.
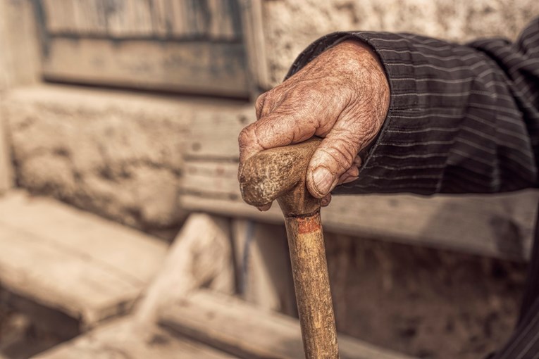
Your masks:
M48 53L47 80L247 96L241 44L58 38Z

